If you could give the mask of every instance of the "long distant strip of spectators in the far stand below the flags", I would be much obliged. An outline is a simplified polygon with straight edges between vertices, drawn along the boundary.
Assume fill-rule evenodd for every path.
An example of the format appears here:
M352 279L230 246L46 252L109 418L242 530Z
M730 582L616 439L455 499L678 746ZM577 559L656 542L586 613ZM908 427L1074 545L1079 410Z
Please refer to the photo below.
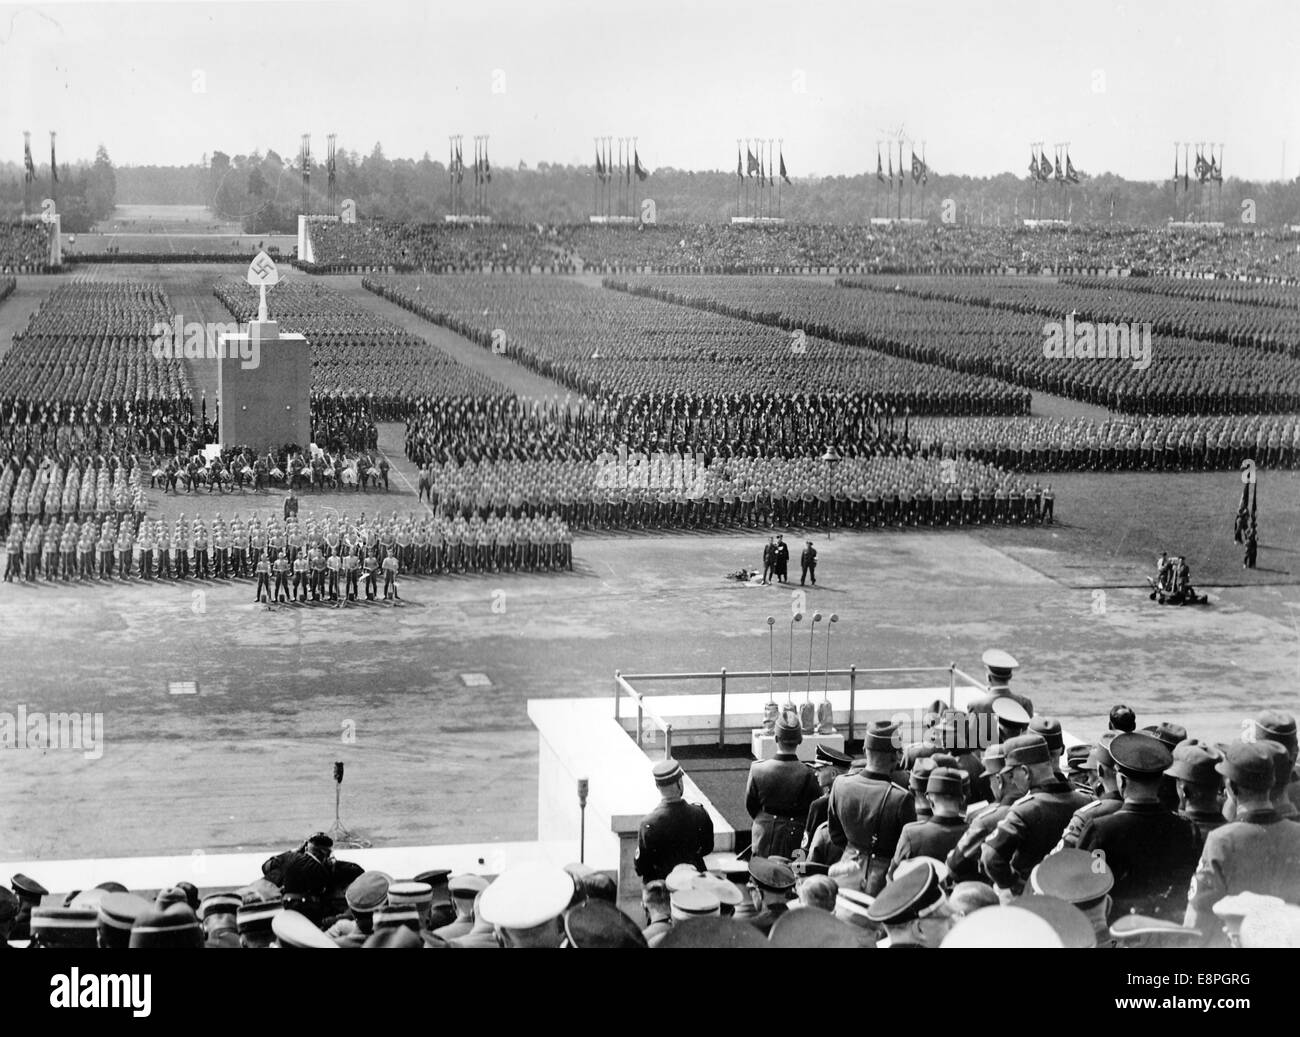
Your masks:
M1287 230L956 225L313 224L317 270L1053 273L1300 277Z

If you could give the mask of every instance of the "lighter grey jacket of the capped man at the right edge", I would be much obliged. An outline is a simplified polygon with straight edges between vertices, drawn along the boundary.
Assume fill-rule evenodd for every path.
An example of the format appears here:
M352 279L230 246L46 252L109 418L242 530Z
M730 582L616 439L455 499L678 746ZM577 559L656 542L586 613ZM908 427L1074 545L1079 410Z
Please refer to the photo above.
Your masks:
M1274 810L1252 810L1210 832L1187 894L1186 924L1217 930L1210 908L1245 891L1300 903L1300 824Z

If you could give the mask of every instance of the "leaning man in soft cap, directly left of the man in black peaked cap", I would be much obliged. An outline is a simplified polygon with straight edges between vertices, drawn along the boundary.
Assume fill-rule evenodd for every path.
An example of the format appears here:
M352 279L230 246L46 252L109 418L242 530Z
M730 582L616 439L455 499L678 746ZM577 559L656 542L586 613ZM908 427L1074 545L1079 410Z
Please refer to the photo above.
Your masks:
M1070 817L1088 797L1057 776L1041 734L1019 734L1004 749L1004 781L1023 781L1026 793L984 841L980 865L1006 903L1020 894L1034 865L1057 845Z

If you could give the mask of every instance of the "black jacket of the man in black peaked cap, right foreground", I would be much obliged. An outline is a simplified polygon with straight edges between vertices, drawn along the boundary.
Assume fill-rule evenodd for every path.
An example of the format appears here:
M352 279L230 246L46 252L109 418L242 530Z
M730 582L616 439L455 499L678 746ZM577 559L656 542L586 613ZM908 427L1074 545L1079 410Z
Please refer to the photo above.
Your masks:
M1104 850L1114 872L1112 919L1139 915L1179 921L1196 869L1196 830L1160 803L1124 803L1095 817L1079 836L1080 850Z

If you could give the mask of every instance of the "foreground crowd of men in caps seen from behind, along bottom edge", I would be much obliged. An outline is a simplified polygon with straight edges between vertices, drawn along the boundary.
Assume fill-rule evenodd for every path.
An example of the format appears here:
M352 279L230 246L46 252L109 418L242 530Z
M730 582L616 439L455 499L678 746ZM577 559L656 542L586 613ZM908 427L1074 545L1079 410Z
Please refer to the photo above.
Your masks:
M1002 659L1010 659L998 654ZM988 656L985 656L988 658ZM1014 663L1014 660L1011 660ZM681 764L647 763L640 903L585 864L499 875L365 871L317 832L246 885L51 894L14 875L0 941L35 949L165 947L1297 947L1296 724L1265 710L1210 743L1110 710L1096 742L991 684L968 712L933 707L909 738L874 721L857 759L794 750L753 764L744 854L711 852ZM988 737L982 737L980 732ZM777 806L779 804L779 806ZM775 816L775 811L784 812ZM343 851L346 854L346 851ZM746 859L748 858L748 859Z

